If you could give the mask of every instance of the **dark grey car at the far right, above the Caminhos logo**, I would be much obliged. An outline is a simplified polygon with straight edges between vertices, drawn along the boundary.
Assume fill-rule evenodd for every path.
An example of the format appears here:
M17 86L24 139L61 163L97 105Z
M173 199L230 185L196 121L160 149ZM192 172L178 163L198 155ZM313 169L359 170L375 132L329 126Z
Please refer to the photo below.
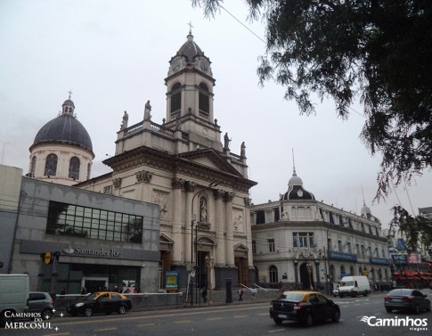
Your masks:
M387 313L393 310L410 310L420 314L422 310L430 312L430 300L419 290L402 288L388 292L384 297L384 307Z

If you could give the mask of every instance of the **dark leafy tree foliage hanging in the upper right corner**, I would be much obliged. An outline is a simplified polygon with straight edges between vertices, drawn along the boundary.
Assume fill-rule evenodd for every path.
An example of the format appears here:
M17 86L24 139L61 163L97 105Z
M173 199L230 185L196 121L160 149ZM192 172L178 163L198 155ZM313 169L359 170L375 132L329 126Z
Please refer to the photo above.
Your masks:
M273 79L285 86L285 98L295 100L306 115L315 113L311 94L332 98L342 119L360 99L366 117L363 142L372 155L382 154L377 199L386 197L392 184L409 183L430 168L432 1L245 2L249 20L266 23L266 53L257 69L261 85ZM223 3L192 0L207 17ZM395 210L401 225L420 224L408 220L404 209ZM403 230L409 233L412 225ZM412 242L419 237L415 230Z

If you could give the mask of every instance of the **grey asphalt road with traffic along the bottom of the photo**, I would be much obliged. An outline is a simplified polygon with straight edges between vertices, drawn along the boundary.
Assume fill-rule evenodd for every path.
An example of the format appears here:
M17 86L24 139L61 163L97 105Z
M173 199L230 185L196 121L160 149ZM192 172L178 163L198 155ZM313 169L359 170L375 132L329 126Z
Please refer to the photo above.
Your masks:
M426 292L430 298L432 293ZM323 323L305 328L294 322L276 325L268 314L268 303L243 303L232 306L188 307L159 311L128 312L125 316L116 314L91 317L59 316L55 313L49 322L52 329L4 329L0 336L118 336L118 335L215 335L215 336L255 336L255 335L320 335L320 336L406 336L431 335L432 313L419 316L404 313L388 314L383 304L384 294L375 294L363 298L334 299L341 309L339 323ZM406 318L424 324L420 330L410 326L370 325L361 319L370 318L371 324L377 324L386 318L395 321ZM372 317L375 316L375 317ZM364 318L363 318L364 319ZM416 320L416 319L421 319ZM29 321L25 321L28 322ZM413 322L411 322L413 323ZM399 322L401 324L401 322ZM36 326L36 325L33 325ZM45 328L48 327L45 324ZM427 330L424 330L424 329Z

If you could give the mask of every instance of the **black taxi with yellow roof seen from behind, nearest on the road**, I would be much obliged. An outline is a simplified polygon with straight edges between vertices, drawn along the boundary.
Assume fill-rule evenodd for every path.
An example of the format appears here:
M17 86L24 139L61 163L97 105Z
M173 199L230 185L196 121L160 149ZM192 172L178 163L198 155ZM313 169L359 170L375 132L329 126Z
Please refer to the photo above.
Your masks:
M272 301L270 317L275 324L289 320L311 326L319 321L338 322L340 309L333 300L317 291L284 291Z

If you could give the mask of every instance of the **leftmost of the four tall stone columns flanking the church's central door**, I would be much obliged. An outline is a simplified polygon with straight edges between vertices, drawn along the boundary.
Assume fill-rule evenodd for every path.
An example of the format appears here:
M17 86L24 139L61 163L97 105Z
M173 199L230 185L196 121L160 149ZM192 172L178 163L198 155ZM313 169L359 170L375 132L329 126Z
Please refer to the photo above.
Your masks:
M172 181L173 186L173 212L171 223L173 223L173 254L171 256L174 265L185 265L190 262L191 259L185 259L184 251L182 249L182 221L179 220L182 217L182 187L184 186L184 180L182 178L174 178Z

